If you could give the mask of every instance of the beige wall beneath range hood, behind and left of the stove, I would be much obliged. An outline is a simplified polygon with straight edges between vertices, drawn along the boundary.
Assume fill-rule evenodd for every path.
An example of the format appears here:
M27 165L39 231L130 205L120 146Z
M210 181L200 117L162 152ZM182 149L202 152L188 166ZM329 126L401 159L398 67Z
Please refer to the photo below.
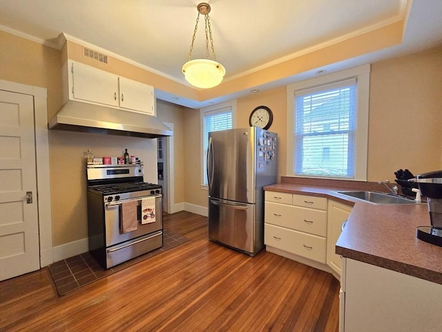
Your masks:
M49 131L50 196L53 246L88 237L84 151L95 156L122 156L124 149L140 158L144 181L157 182L157 141L126 136Z

